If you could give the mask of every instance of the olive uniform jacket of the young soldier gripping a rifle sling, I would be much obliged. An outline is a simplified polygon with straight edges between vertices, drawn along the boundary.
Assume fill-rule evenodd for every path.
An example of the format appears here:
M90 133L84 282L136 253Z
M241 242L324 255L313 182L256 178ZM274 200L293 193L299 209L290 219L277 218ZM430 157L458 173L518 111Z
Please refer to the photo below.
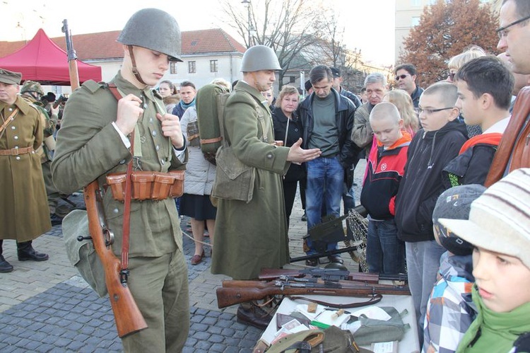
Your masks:
M162 98L145 88L141 91L117 74L112 80L122 96L131 93L143 101L143 115L136 124L135 169L167 172L182 167L170 139L163 136L156 112L164 113ZM124 173L131 158L112 122L117 117L117 100L105 83L87 81L66 103L52 161L57 188L66 194L80 190L96 178L105 185L105 175ZM136 158L135 158L136 159ZM103 198L108 227L114 231L112 249L121 254L124 204L113 199L110 188ZM129 257L159 257L182 250L182 232L175 201L131 202ZM134 274L131 273L131 276Z

